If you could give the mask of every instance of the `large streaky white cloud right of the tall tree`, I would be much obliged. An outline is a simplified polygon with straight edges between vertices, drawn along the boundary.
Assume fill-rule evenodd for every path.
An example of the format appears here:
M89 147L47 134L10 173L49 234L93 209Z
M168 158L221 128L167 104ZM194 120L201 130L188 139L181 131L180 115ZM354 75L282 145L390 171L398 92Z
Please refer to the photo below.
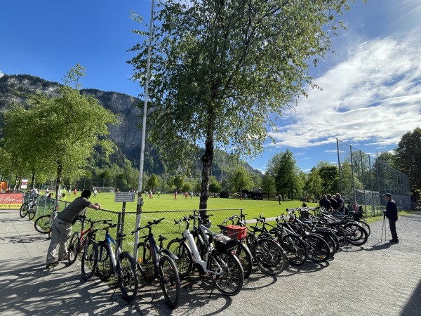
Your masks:
M349 49L347 59L315 80L292 114L270 133L275 147L345 143L396 144L421 121L421 37L373 39Z

